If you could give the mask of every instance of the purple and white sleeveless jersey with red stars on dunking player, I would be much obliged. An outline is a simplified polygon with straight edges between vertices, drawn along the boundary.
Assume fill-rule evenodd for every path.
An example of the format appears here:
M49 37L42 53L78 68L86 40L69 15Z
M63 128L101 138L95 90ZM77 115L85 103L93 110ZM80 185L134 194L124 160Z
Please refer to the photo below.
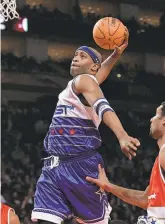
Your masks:
M88 75L97 82L97 79ZM59 94L59 100L44 147L49 155L78 155L101 145L100 118L92 107L83 105L72 89L71 80ZM98 83L98 82L97 82Z

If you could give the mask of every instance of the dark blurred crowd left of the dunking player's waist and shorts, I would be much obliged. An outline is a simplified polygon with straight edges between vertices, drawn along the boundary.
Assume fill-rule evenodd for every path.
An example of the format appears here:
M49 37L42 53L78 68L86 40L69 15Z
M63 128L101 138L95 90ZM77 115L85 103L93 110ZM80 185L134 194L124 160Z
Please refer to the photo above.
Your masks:
M30 224L42 153L42 138L37 138L37 125L39 122L40 128L44 124L40 124L40 110L35 106L12 106L5 103L1 110L1 193L4 202L15 208L22 223Z

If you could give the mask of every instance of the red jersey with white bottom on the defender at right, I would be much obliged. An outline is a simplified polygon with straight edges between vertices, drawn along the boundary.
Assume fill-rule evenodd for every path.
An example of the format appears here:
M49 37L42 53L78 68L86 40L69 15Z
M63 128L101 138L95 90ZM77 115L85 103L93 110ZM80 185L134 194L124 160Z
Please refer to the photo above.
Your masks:
M149 217L165 219L165 174L160 167L159 155L152 168L149 185L148 208Z

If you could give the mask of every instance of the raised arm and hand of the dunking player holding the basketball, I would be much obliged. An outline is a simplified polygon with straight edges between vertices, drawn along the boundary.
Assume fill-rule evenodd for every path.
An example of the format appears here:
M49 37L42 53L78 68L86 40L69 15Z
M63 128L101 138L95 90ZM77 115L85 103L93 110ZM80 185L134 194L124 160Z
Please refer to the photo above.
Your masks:
M114 64L120 58L123 51L127 48L128 38L129 38L129 32L128 32L128 29L126 28L124 43L120 47L115 48L114 52L101 64L101 67L96 74L96 78L97 78L97 81L99 82L99 84L101 84L102 82L104 82L106 80L106 78L109 76Z

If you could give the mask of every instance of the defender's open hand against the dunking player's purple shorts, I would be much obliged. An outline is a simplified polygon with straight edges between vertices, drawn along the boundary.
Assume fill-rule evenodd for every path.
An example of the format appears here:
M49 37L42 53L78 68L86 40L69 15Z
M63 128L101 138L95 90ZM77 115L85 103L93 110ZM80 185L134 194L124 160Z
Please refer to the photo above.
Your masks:
M97 184L101 188L101 190L105 190L106 186L110 183L105 174L104 168L102 168L100 164L98 165L98 171L99 171L98 179L92 177L86 177L86 180L91 183Z

